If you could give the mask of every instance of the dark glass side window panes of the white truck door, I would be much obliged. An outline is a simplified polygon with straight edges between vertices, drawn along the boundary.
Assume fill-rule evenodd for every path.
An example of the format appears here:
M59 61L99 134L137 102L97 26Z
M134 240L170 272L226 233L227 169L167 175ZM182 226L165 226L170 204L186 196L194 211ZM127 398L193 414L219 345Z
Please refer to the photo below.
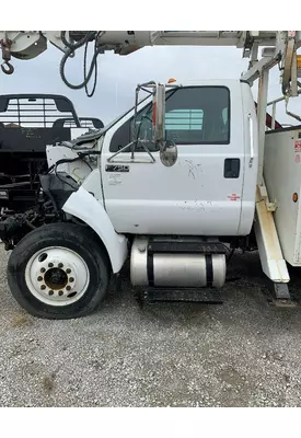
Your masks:
M166 92L165 138L177 145L229 145L230 92L225 87L190 87ZM136 129L135 129L136 128ZM138 113L113 136L109 150L116 152L136 138L155 150L152 138L152 104ZM136 149L143 151L142 148Z

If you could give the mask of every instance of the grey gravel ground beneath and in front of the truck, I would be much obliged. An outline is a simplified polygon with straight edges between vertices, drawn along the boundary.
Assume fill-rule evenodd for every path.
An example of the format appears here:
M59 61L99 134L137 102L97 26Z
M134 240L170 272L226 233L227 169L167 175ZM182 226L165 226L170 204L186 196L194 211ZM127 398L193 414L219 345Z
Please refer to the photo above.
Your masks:
M124 279L94 314L39 320L11 297L0 246L1 406L300 406L301 307L267 301L257 254L236 254L222 306L141 310ZM300 270L291 290L300 300Z

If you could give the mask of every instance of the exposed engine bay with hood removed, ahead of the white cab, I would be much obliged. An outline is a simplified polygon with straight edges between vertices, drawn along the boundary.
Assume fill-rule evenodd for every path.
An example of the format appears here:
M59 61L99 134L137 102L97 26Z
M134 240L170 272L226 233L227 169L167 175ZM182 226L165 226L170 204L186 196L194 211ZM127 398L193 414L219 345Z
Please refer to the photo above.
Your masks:
M96 141L97 142L97 141ZM97 165L95 140L78 148L73 143L46 148L48 169L38 175L35 203L24 212L2 208L0 239L5 250L12 250L20 240L46 223L68 221L61 207L81 186Z

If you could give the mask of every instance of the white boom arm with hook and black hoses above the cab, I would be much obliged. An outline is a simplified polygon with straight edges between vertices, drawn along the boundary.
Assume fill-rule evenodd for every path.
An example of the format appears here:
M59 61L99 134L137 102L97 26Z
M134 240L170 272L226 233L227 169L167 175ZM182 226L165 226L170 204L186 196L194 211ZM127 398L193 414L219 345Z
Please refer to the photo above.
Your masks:
M11 57L33 59L47 48L47 42L63 53L60 74L63 82L73 89L85 87L96 68L96 57L106 50L129 55L146 46L234 46L250 58L245 80L253 83L265 68L279 64L282 71L282 93L298 94L297 49L301 46L301 31L0 31L4 73L12 73ZM94 42L94 57L84 81L70 84L65 77L65 64L76 50ZM258 47L264 46L258 60Z

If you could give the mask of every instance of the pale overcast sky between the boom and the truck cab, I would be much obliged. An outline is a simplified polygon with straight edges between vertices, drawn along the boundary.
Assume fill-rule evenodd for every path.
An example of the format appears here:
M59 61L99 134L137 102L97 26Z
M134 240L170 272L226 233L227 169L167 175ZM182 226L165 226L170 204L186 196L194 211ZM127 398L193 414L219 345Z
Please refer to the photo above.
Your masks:
M12 76L0 72L0 93L63 94L73 102L80 116L94 116L106 124L134 105L137 83L167 81L169 78L175 78L178 82L210 78L239 79L248 65L248 59L242 59L242 50L232 47L146 47L124 57L106 53L99 57L97 88L94 96L89 99L84 90L73 91L63 84L59 76L61 56L61 51L49 44L48 49L35 59L12 58L15 72ZM73 83L81 82L83 53L80 51L68 62L67 79ZM256 87L254 91L256 96ZM275 67L270 73L268 99L280 95L279 72ZM291 108L299 110L301 114L301 103L297 101ZM283 114L283 105L280 113Z

